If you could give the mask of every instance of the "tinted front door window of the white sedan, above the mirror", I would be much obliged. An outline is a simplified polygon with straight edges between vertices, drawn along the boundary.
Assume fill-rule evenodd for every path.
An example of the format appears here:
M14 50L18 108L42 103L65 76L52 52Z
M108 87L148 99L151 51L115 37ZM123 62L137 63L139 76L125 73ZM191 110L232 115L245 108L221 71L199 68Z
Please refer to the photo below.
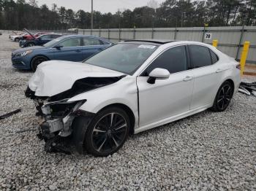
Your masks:
M187 53L185 46L173 47L163 52L148 66L143 76L148 76L148 74L156 68L167 69L170 74L187 70Z

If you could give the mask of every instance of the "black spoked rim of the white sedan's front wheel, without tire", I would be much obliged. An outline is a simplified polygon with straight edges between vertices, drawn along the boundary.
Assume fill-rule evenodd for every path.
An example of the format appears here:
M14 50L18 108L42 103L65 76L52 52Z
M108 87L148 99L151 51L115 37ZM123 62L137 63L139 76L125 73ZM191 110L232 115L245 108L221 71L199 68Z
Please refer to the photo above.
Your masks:
M105 114L94 126L92 145L97 152L111 152L124 142L126 131L127 121L121 114Z

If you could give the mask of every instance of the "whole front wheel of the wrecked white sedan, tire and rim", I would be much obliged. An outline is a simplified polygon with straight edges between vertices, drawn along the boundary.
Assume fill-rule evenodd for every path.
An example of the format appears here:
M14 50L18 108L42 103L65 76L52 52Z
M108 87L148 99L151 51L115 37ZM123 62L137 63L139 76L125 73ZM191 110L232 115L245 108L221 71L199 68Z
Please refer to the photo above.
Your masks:
M83 119L83 118L81 118ZM77 122L81 125L82 122ZM85 133L83 136L83 147L91 155L106 157L120 149L129 135L130 120L128 114L121 108L109 107L99 112L87 128L86 132L73 132L75 134ZM86 125L86 121L83 122Z

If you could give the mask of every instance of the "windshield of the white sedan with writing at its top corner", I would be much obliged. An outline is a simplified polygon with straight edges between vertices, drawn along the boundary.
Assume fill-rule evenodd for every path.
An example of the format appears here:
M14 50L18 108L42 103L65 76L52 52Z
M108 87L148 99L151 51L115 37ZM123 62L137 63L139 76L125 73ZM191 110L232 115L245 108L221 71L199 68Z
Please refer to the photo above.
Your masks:
M156 45L121 43L83 62L132 75L155 50Z

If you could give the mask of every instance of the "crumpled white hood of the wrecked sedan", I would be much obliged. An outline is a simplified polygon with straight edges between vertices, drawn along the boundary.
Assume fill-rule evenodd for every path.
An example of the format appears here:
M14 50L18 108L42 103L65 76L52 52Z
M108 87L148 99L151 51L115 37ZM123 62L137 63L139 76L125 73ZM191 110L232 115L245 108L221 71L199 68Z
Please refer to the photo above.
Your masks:
M97 79L102 81L103 78L104 81L105 78L108 81L111 77L121 77L124 75L118 71L86 63L47 61L38 66L37 71L29 80L29 88L36 96L51 97L64 91L72 90L74 83L79 81L79 79L88 78L93 83ZM86 83L88 84L88 82Z

